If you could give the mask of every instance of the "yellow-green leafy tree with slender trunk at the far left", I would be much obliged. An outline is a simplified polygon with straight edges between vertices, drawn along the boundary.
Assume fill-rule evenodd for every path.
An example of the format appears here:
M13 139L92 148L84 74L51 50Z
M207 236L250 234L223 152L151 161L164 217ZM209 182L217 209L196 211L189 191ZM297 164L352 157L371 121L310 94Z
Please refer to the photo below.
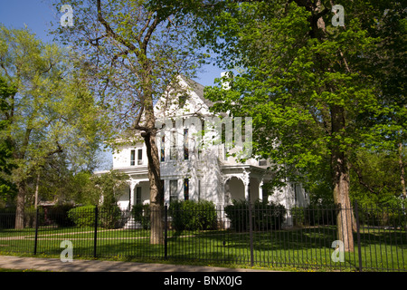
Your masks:
M42 43L28 29L0 26L0 67L14 84L5 138L12 144L17 188L15 227L24 227L27 187L52 157L65 154L71 164L86 160L79 152L97 148L104 127L77 55Z

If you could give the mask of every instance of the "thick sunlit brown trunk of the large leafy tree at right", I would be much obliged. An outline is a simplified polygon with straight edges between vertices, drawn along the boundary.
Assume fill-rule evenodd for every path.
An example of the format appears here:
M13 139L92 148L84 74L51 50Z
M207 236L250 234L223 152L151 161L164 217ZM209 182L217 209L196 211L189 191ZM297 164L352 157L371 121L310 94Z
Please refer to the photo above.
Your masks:
M334 136L340 135L345 129L345 112L340 106L334 105L331 109L332 132ZM344 243L345 252L354 251L354 236L352 231L353 212L349 198L349 168L345 152L336 145L331 151L331 164L333 169L334 200L339 207L336 215L337 239Z

